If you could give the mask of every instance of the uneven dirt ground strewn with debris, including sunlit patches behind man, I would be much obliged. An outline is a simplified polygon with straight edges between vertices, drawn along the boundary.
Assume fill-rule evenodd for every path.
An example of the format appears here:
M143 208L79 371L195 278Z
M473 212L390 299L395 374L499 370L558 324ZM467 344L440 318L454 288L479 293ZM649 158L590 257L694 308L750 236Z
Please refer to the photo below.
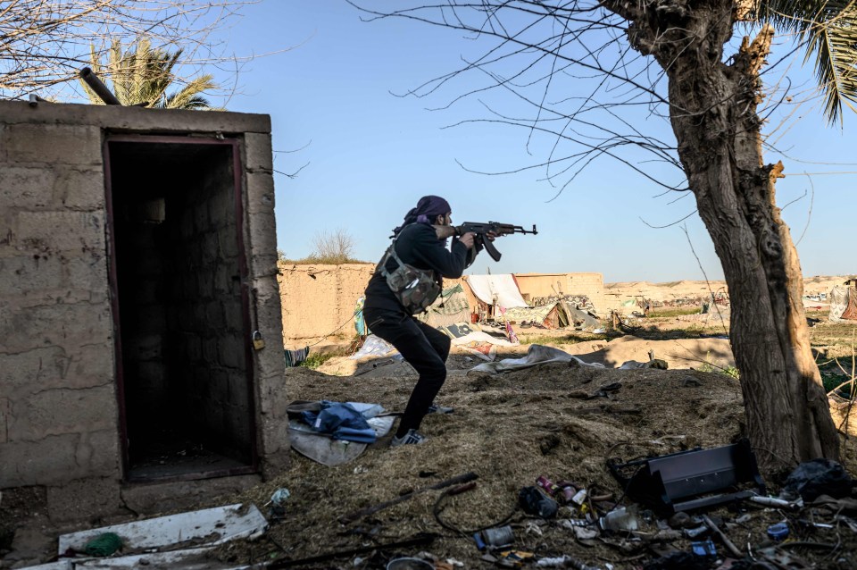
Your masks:
M538 334L553 335L559 348L607 367L548 364L495 375L470 371L481 361L456 352L450 356L450 373L437 398L439 404L454 407L454 412L426 417L421 429L428 436L424 444L390 448L387 436L351 463L336 467L293 451L287 473L239 495L213 497L199 505L252 502L269 515L271 494L281 488L291 493L285 516L271 520L261 539L231 542L217 551L217 557L235 565L374 569L386 567L391 558L419 555L433 559L437 568L452 567L447 564L490 568L495 564L483 559L473 533L510 524L513 548L533 555L533 560L570 556L588 567L617 570L645 564L649 568L718 567L713 558L697 559L704 566L686 562L651 566L670 549L689 551L691 541L680 528L659 529L658 518L645 506L638 514L636 538L604 533L587 539L576 537L573 528L562 524L584 516L577 508L561 507L557 517L543 520L521 509L519 492L534 485L539 476L572 482L590 496L604 496L587 504L590 512L603 515L617 500L621 505L633 504L610 474L609 458L628 461L696 447L715 448L740 439L744 410L739 381L724 373L703 372L734 365L728 340L625 336L607 341L593 335L569 344L562 342L567 333ZM526 349L506 348L499 357L521 356ZM665 360L669 369L616 369L627 360L647 361L650 351ZM284 386L293 400L370 402L401 412L415 376L409 365L391 358L355 362L343 356L329 360L320 371L287 369ZM843 438L843 463L849 473L857 474L853 438ZM475 474L475 488L455 495L445 493L449 488L427 490L464 474ZM778 490L776 482L768 483L771 490ZM338 520L414 491L411 499L352 523ZM757 557L761 557L758 549L770 544L766 529L785 520L793 544L781 551L794 558L792 563L800 559L811 565L806 567L857 567L857 525L852 530L845 519L837 522L828 511L792 512L742 503L732 510L718 507L707 513L739 549L747 552L750 545ZM834 528L816 528L800 523L801 519ZM653 539L658 532L661 538ZM431 542L385 546L420 537ZM719 539L712 538L718 558L727 557ZM326 557L341 552L346 554ZM299 562L309 557L324 558ZM526 566L535 565L531 560Z

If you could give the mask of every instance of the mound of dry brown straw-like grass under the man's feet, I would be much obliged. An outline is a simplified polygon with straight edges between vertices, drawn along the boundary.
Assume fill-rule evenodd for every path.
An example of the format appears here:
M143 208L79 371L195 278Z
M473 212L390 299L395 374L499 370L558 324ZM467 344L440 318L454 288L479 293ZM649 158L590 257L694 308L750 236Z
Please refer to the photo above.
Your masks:
M387 368L383 376L359 377L290 369L287 386L295 399L369 401L401 410L414 379L406 366L396 366L398 373ZM617 381L622 388L611 398L585 399ZM389 448L382 440L353 463L334 468L295 454L287 473L237 498L262 506L274 490L286 487L292 492L286 520L271 527L270 540L233 545L222 549L221 556L245 562L296 559L434 532L438 538L430 552L461 560L467 567L480 566L484 563L470 532L506 519L520 488L534 484L539 475L619 496L621 490L605 468L607 457L628 460L697 445L726 445L740 435L743 415L737 381L687 370L542 365L500 376L456 371L439 399L454 406L455 413L429 415L423 423L429 440L421 446ZM468 472L478 474L476 489L445 499L442 513L445 522L468 531L463 534L437 524L432 510L439 490L354 524L337 522L358 509ZM578 516L570 511L563 515ZM527 533L531 522L520 510L514 512L516 548L539 557L570 554L592 563L610 560L618 568L631 567L615 549L582 545L556 524L540 526L540 535ZM349 564L345 558L322 566Z

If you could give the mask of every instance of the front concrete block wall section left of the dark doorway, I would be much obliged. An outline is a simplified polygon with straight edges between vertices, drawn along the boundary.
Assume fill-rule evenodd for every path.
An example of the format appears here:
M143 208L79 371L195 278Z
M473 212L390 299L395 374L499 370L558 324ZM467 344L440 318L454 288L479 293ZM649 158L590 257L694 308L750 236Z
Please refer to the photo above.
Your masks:
M0 488L118 478L96 125L0 107Z

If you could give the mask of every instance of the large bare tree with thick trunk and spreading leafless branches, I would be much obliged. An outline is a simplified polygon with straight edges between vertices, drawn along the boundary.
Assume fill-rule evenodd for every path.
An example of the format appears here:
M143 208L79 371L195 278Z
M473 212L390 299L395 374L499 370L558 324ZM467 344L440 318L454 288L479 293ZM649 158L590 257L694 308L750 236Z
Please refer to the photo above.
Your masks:
M763 160L761 126L771 109L760 109L767 95L761 70L774 37L770 25L731 44L739 25L733 0L412 0L393 12L386 3L371 10L368 2L354 3L367 20L420 21L483 46L408 95L453 89L448 105L478 97L487 108L487 117L473 122L522 130L528 152L541 160L508 172L544 170L562 191L606 156L666 192L695 197L728 282L730 340L762 469L838 457L811 354L801 268L775 200L784 167ZM753 0L744 4L743 13L759 8ZM815 48L828 119L835 121L857 96L854 4L764 1L758 12L795 31L811 54ZM464 73L481 84L455 89ZM511 110L499 106L510 102ZM667 122L676 142L658 138L654 122L641 124L639 110ZM672 183L664 164L674 167Z

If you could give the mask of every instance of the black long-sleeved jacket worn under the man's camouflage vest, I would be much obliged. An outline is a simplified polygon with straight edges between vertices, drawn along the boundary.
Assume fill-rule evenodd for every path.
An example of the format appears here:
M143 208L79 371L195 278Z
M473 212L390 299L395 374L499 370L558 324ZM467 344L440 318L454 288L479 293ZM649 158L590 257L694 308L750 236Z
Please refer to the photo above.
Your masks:
M471 252L471 253L470 253ZM405 264L417 269L430 269L436 273L437 281L443 277L456 279L462 276L476 257L476 249L468 250L458 238L453 238L451 250L444 247L444 240L437 239L437 233L428 223L412 223L405 226L395 239L395 253ZM395 271L398 264L390 257L387 271ZM366 301L363 308L404 311L404 307L395 298L387 286L387 278L380 272L372 274L366 286Z

